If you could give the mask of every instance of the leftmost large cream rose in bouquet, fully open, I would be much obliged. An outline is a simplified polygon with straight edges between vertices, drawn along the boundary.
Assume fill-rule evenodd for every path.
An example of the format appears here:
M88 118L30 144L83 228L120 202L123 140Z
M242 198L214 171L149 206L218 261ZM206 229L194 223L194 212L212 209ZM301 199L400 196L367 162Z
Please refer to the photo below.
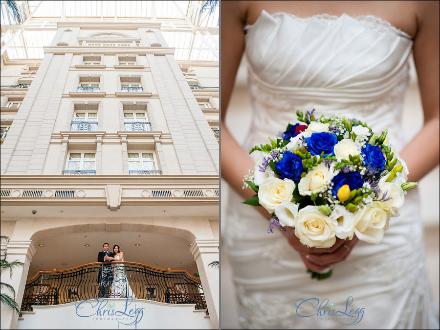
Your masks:
M272 213L282 201L292 200L295 183L289 179L268 178L258 190L258 201L268 212Z

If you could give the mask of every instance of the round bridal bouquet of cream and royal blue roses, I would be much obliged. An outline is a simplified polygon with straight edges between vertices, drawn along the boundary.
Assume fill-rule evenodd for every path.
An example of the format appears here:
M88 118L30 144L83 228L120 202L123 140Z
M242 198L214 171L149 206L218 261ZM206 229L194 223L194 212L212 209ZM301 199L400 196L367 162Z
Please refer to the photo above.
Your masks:
M253 147L261 151L243 188L256 194L245 204L263 206L271 213L269 232L276 226L293 233L308 247L329 248L336 237L372 244L382 241L391 216L398 216L408 168L386 139L359 120L333 114L304 115L304 124L288 124L282 139ZM312 272L312 278L324 274Z

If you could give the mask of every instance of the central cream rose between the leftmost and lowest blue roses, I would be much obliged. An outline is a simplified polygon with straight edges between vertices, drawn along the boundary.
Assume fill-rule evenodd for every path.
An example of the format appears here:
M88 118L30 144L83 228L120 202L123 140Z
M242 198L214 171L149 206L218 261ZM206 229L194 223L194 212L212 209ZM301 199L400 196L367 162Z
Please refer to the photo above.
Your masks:
M311 169L298 183L298 191L301 195L311 195L321 192L335 176L333 167L330 170L327 165L321 163Z

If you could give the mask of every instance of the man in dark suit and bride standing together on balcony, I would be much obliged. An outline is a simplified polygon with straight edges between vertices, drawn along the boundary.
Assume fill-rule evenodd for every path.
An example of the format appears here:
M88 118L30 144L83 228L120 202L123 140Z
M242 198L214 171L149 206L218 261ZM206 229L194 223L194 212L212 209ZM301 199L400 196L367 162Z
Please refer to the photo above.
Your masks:
M98 254L98 261L105 262L98 272L101 298L136 298L127 279L124 264L111 263L112 261L124 261L124 254L117 244L113 246L113 252L109 252L109 248L109 243L104 243L104 251ZM110 287L111 294L109 296Z

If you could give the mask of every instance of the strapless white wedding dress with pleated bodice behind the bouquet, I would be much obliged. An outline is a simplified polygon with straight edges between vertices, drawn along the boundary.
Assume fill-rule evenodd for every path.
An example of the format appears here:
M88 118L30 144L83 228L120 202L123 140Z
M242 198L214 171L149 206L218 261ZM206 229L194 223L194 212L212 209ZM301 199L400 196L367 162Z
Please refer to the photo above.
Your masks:
M245 31L253 107L247 150L297 122L296 109L313 108L315 117L330 110L365 121L379 134L388 128L388 141L403 148L402 103L413 47L406 33L372 16L302 19L265 11ZM268 221L241 201L231 191L222 238L243 328L438 329L417 189L405 196L381 244L359 241L331 278L319 282L310 279L284 234L267 234ZM364 308L360 322L360 309L358 321L342 313L329 317L329 309L344 312L350 296L346 313ZM308 305L297 313L297 301L309 298L327 298L334 306L320 317L301 317L318 311Z

